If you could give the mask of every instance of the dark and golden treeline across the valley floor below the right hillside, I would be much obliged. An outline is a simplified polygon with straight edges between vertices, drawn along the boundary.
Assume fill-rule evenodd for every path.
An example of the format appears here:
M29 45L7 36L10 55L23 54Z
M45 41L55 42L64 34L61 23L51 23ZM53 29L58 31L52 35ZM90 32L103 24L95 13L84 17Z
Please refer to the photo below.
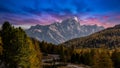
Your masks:
M44 47L45 45L45 47ZM63 45L56 46L41 42L42 52L46 54L59 54L60 61L88 65L91 68L120 68L120 50L106 48L68 48Z

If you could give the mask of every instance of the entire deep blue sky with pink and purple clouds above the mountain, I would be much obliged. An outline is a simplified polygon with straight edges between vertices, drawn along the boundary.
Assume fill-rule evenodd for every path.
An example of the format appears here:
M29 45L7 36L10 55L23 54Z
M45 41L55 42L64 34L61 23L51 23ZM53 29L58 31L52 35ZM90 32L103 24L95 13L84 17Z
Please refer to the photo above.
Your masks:
M0 0L0 25L48 25L78 17L81 25L120 24L120 0Z

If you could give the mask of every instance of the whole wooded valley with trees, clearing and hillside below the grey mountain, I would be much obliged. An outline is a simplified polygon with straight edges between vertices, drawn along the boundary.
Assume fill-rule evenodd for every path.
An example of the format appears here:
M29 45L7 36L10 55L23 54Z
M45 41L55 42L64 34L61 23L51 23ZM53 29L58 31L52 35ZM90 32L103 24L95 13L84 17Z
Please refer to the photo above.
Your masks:
M0 67L120 67L120 25L61 44L53 44L31 38L22 28L15 28L5 22L0 37Z

